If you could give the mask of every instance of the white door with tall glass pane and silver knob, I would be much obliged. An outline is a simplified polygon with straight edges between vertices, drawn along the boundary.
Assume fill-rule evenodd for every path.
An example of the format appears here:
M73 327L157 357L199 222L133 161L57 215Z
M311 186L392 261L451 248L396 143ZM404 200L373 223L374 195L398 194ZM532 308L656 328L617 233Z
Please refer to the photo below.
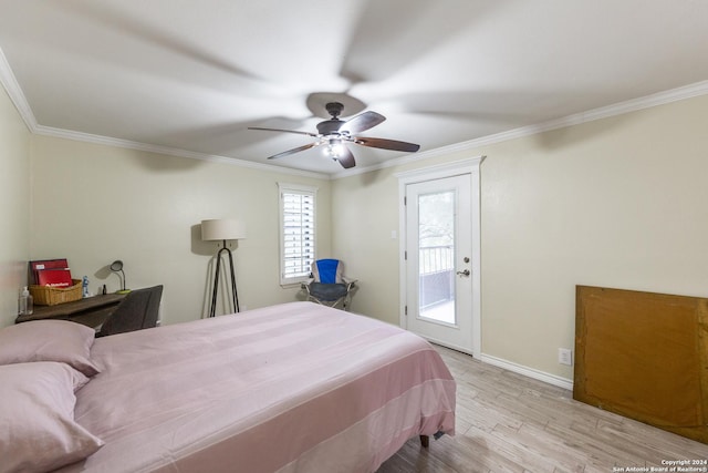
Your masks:
M406 326L470 352L470 175L408 184L406 202Z

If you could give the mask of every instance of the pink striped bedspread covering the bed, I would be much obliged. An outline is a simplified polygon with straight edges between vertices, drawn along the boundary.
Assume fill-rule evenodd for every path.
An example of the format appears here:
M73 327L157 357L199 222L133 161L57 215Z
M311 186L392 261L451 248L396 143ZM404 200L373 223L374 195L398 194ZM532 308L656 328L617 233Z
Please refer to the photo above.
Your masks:
M455 430L426 341L312 302L97 339L92 359L75 419L106 445L62 472L373 472Z

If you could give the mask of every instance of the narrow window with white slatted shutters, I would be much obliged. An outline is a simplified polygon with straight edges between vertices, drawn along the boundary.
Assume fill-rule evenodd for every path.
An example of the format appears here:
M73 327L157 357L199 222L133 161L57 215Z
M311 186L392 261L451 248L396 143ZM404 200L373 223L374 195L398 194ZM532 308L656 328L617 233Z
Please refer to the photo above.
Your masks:
M280 284L304 281L315 258L316 187L278 184L280 191Z

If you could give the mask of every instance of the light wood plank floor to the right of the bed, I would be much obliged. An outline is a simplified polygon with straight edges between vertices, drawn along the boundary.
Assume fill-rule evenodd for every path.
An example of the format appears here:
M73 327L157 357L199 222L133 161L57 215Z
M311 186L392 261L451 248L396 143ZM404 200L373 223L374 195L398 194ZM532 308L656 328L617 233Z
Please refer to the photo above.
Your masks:
M571 391L467 354L438 351L457 380L457 433L430 439L428 450L408 441L378 473L608 473L708 459L706 444L592 408L574 401Z

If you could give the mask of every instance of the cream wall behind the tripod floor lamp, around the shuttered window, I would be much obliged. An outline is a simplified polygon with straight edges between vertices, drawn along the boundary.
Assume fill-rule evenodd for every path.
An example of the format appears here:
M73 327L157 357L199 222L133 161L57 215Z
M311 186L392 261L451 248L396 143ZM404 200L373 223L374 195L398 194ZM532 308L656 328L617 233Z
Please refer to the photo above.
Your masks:
M279 286L278 182L319 187L317 249L330 251L330 181L40 135L32 154L32 258L66 257L94 292L118 288L107 265L122 259L128 287L165 286L165 323L208 309L217 245L200 240L207 218L246 224L235 251L241 306L295 300L299 288Z

